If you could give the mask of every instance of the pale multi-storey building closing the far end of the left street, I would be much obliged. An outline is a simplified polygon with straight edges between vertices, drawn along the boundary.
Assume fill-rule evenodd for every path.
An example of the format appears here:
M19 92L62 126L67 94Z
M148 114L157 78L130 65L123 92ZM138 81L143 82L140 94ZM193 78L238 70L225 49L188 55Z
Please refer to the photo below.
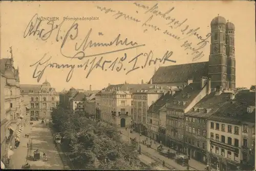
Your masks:
M20 85L20 94L30 104L31 120L49 119L52 109L59 104L59 95L47 79L42 84Z

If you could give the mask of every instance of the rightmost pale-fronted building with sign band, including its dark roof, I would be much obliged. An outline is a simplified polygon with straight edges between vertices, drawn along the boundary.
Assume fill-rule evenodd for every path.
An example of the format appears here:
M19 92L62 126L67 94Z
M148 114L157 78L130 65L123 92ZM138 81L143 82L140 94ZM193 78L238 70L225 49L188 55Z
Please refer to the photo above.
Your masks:
M240 91L208 120L209 163L219 169L254 169L255 92Z

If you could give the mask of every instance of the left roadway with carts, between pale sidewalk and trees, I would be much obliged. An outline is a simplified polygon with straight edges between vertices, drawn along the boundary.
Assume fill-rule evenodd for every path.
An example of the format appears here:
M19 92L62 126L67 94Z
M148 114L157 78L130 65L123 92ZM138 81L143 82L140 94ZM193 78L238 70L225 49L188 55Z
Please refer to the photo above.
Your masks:
M30 138L32 142L32 150L30 150L28 158L30 169L63 169L63 163L53 141L51 130L46 123L34 121ZM36 149L40 152L41 158L38 161L33 161L32 156ZM47 161L44 161L44 152L47 154Z

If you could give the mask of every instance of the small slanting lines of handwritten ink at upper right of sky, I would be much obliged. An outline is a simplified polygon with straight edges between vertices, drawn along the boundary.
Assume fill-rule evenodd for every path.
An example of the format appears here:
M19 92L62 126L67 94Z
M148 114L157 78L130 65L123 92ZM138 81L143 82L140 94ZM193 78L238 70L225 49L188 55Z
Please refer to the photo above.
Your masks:
M123 19L123 20L130 20L133 23L136 23L136 26L140 26L144 29L144 32L147 31L147 29L151 29L156 32L161 32L167 37L173 38L177 41L180 41L180 47L183 48L187 54L193 56L193 61L196 61L204 56L203 48L207 45L209 42L208 39L211 36L211 33L208 33L206 36L201 36L198 32L200 31L200 27L198 28L191 28L189 25L186 25L187 18L183 20L179 20L175 17L172 17L172 12L175 10L175 7L170 8L167 11L161 11L159 9L158 4L155 4L154 6L146 6L142 4L141 2L135 2L133 5L137 8L136 12L138 13L138 10L142 9L144 15L150 15L147 20L141 21L140 19L124 13L120 10L115 10L108 7L103 6L96 6L98 10L101 12L104 12L105 14L112 15L115 19ZM162 18L166 21L165 28L162 28L160 26L157 26L157 24L154 24L153 19L157 17L157 21L159 22L158 18ZM140 24L140 25L139 25ZM180 34L175 34L174 30L180 30ZM192 42L189 41L189 37L195 36L198 39L198 42Z

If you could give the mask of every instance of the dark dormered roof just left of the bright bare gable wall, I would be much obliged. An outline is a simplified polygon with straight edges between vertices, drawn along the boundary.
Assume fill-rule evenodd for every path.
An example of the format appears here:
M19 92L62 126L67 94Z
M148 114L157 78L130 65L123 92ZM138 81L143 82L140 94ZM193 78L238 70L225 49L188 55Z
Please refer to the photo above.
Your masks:
M207 86L207 84L205 86ZM187 106L197 97L200 92L200 82L190 83L182 91L175 93L175 95L169 100L168 104L166 104L166 108L180 110L186 109Z

